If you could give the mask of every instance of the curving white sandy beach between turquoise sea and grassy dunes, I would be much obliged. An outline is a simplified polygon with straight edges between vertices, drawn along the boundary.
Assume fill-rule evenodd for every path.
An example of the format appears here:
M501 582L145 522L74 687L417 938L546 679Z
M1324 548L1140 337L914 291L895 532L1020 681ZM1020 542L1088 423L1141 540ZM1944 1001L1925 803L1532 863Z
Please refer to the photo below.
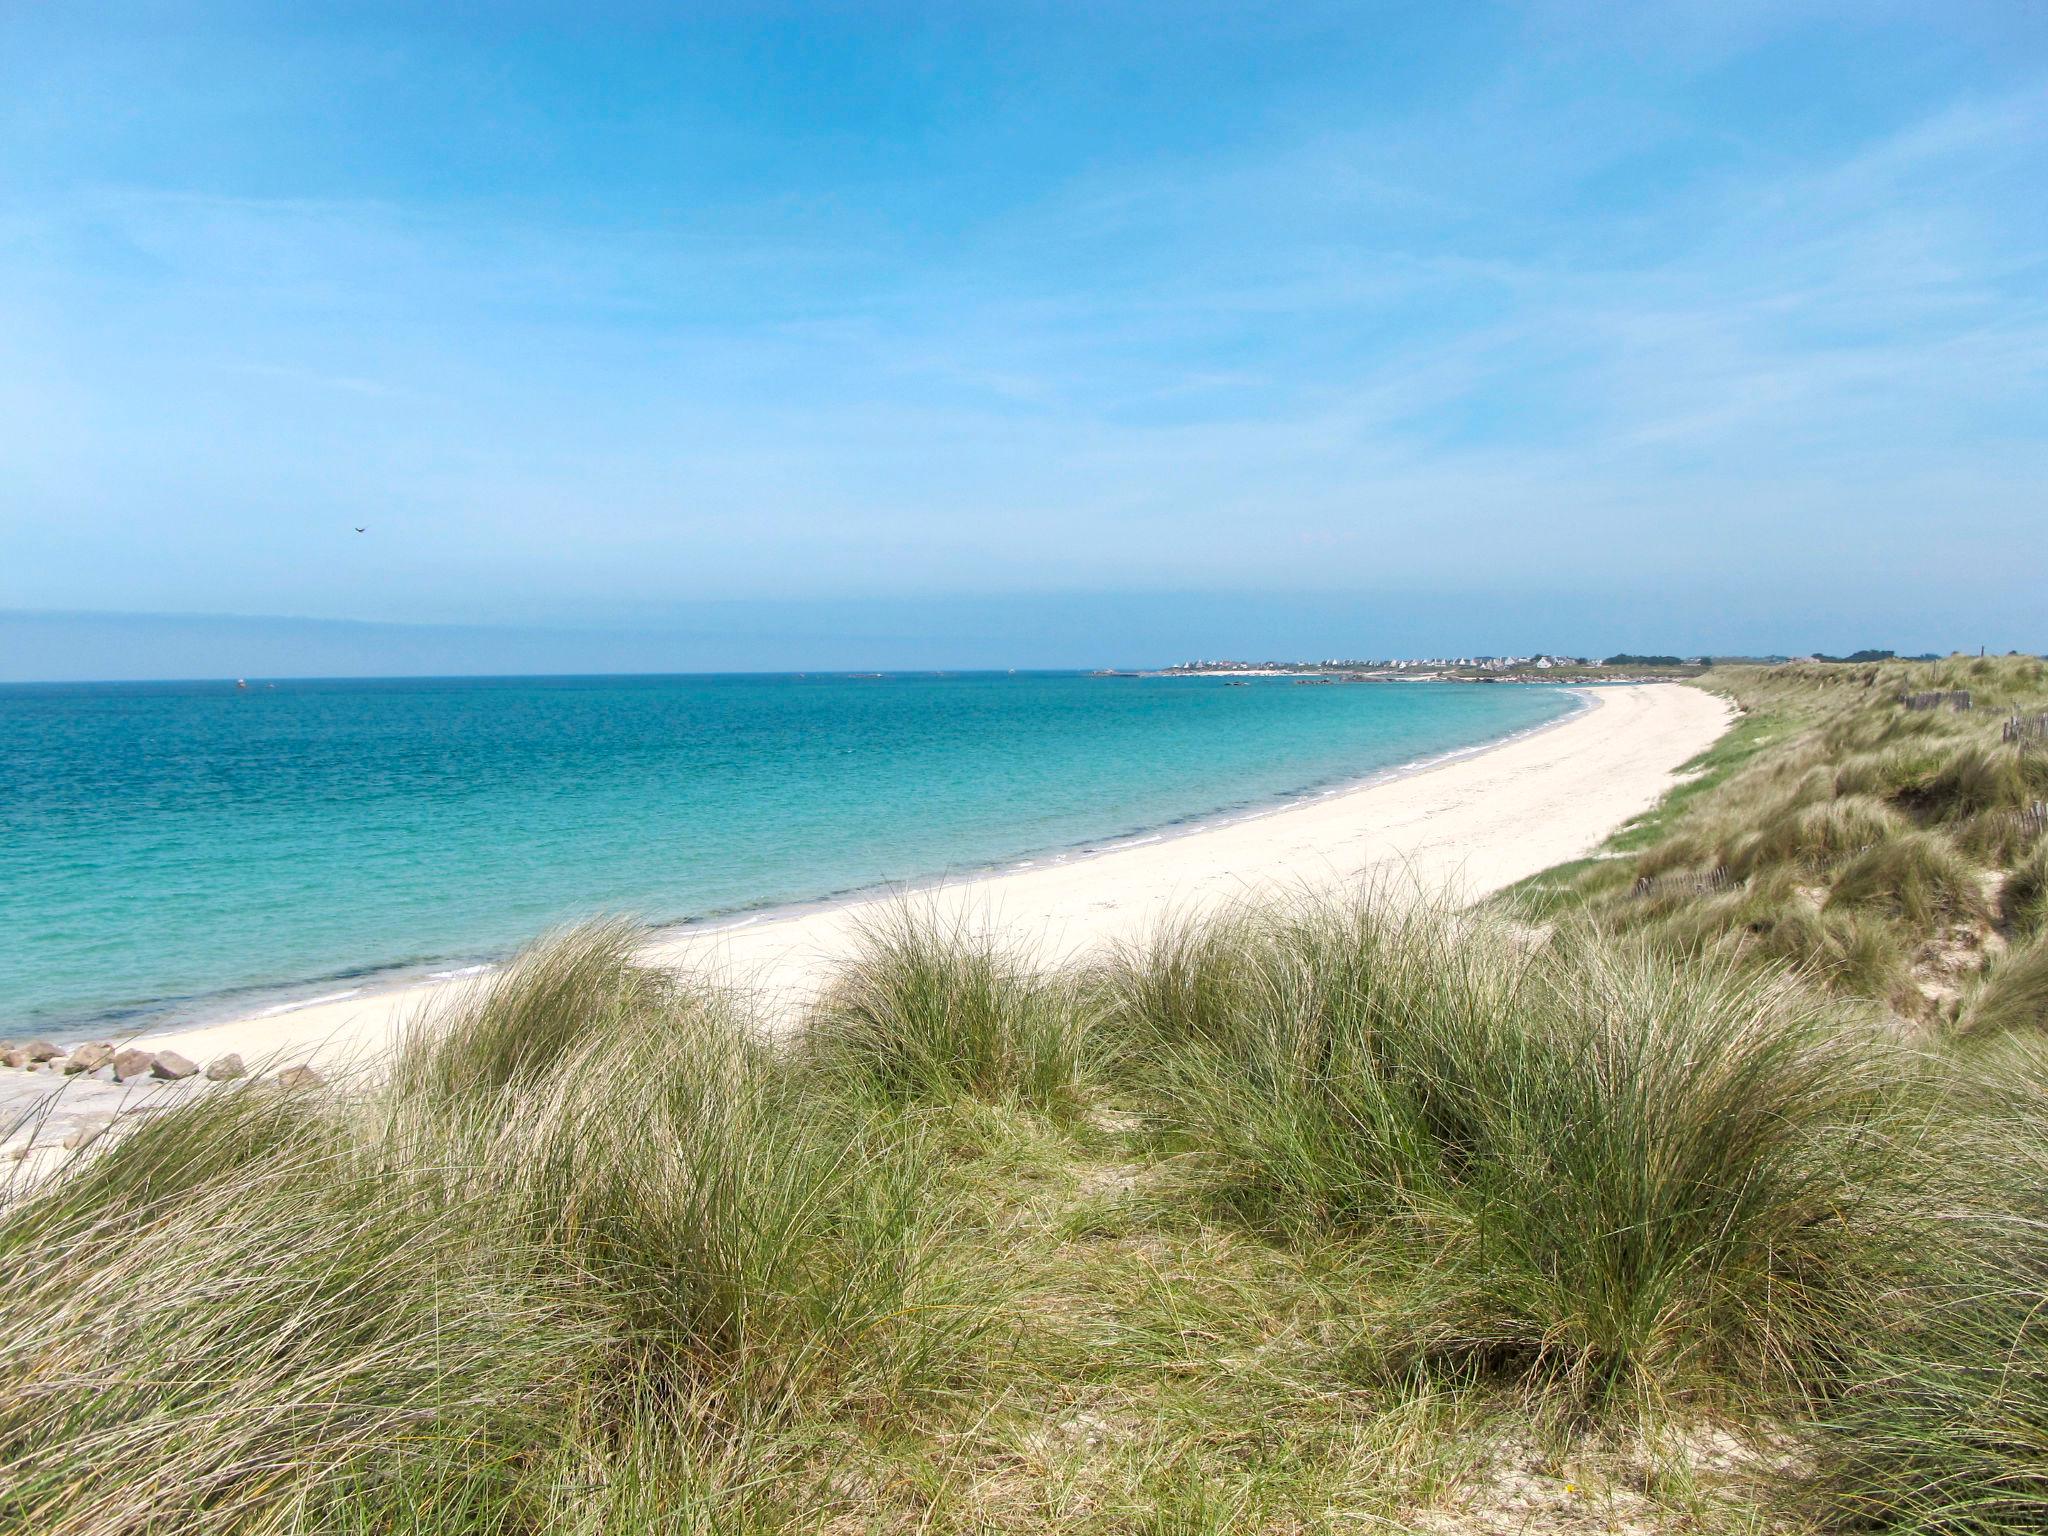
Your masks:
M1597 688L1585 698L1589 707L1565 721L1473 756L1155 842L940 883L920 899L1049 961L1260 891L1395 877L1477 899L1593 850L1655 805L1733 715L1726 700L1677 684ZM770 1008L791 1008L891 899L670 932L649 940L647 958L715 971L762 989ZM199 1063L236 1051L252 1065L342 1065L385 1049L406 1020L463 985L475 983L422 983L162 1030L139 1044Z

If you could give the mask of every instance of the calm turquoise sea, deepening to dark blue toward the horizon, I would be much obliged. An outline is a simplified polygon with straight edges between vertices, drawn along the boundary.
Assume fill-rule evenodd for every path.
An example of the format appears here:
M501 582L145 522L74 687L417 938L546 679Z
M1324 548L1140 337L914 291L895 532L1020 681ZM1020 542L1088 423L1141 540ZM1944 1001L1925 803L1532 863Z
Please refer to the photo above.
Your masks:
M0 686L0 1036L1071 852L1571 707L1075 674Z

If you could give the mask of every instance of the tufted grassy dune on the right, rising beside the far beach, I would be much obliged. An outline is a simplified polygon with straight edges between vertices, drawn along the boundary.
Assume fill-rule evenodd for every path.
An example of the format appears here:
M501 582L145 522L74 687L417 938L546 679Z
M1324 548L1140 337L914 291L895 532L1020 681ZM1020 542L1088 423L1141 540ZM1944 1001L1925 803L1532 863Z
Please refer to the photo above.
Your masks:
M1677 956L1794 965L1843 997L1942 1028L2042 1022L1978 1008L2040 926L2048 713L2038 657L1718 668L1743 717L1602 856L1526 881L1528 918L1585 913ZM1966 694L1909 709L1913 696Z

